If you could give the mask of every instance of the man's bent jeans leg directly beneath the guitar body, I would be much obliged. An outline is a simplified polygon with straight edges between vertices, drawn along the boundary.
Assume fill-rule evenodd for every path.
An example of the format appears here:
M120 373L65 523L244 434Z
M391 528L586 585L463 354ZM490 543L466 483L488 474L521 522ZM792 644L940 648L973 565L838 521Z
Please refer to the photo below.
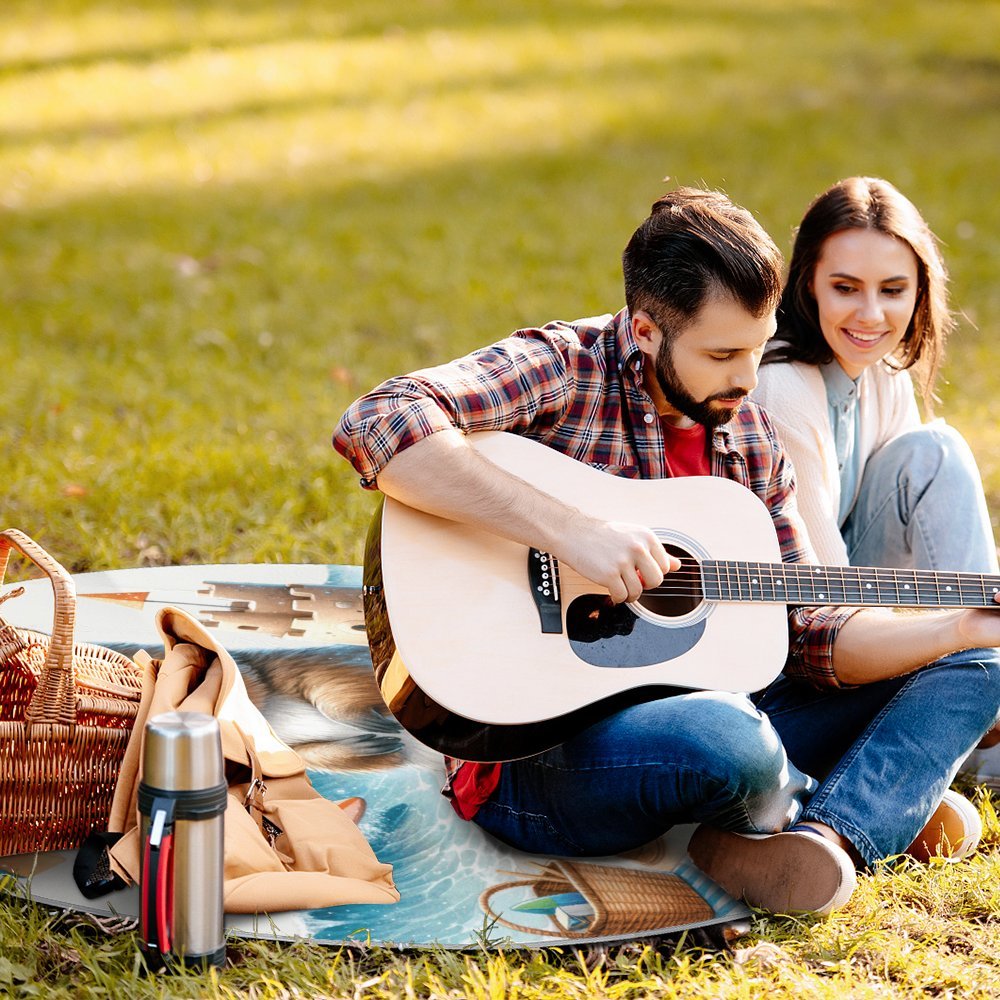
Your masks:
M815 787L745 695L685 692L505 764L476 822L535 853L614 854L677 823L781 830Z

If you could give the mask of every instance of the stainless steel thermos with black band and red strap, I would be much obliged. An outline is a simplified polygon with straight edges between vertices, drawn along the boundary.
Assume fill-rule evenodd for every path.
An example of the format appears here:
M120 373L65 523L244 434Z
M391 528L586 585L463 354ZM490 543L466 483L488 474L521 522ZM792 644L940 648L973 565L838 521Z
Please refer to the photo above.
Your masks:
M219 724L201 712L146 723L139 783L139 932L153 968L223 964L223 817Z

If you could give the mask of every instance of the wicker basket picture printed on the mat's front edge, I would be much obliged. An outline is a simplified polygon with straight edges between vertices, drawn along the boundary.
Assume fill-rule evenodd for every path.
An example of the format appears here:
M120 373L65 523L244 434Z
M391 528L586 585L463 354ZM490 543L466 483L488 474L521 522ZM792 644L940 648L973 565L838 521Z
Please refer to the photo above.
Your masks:
M712 907L679 875L598 865L586 861L550 861L539 871L510 872L516 881L488 888L479 903L488 917L512 930L547 937L612 937L648 932L661 927L711 920ZM567 929L552 917L555 930L514 923L492 907L493 897L504 889L526 886L535 897L567 892L583 897L590 913L583 926Z

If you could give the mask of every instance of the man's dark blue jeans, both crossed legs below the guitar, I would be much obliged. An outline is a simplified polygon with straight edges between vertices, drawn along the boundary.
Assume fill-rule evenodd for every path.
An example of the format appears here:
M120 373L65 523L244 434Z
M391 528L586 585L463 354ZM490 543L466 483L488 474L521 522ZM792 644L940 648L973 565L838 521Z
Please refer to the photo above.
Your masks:
M782 678L755 700L699 692L626 709L506 764L476 822L532 853L603 855L678 823L772 833L801 817L873 864L905 851L992 725L1000 655L968 650L849 689Z

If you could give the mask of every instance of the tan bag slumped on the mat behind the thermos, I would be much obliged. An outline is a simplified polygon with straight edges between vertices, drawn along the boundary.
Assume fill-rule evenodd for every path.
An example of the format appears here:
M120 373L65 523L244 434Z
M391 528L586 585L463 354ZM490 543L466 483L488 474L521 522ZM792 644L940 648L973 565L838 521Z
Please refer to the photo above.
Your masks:
M219 720L229 803L223 897L227 913L395 903L392 866L382 864L336 803L309 783L305 765L250 700L232 656L190 615L156 616L164 656L140 653L142 701L111 806L112 868L139 879L137 797L146 720L163 712L205 712Z

